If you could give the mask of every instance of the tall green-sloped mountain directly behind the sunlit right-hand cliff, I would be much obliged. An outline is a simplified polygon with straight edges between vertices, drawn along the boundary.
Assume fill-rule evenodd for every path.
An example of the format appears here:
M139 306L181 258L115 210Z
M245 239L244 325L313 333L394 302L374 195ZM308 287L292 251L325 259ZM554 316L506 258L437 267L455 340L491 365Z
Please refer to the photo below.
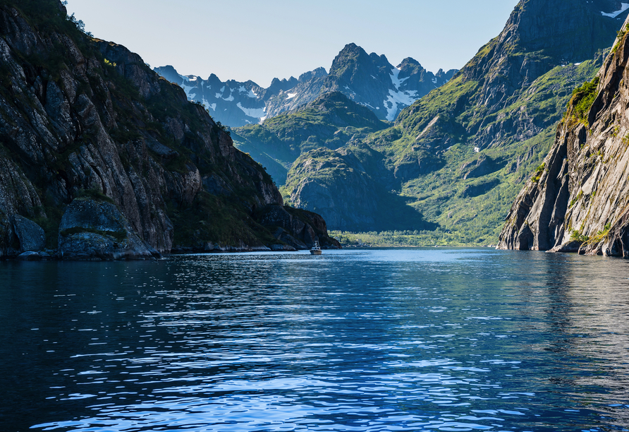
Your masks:
M390 173L374 178L458 242L495 243L513 199L551 147L573 88L595 76L628 13L620 1L520 1L501 34L448 83L360 140ZM311 174L294 175L287 184L307 183ZM336 181L344 180L331 177L328 187ZM305 202L299 188L288 200Z

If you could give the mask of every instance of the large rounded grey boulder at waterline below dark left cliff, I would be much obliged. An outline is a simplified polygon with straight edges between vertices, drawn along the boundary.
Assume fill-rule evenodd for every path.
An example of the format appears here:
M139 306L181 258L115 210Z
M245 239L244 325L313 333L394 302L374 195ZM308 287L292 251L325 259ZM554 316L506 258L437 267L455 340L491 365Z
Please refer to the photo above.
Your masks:
M159 257L114 203L83 198L73 200L61 218L58 253L60 258L78 260Z

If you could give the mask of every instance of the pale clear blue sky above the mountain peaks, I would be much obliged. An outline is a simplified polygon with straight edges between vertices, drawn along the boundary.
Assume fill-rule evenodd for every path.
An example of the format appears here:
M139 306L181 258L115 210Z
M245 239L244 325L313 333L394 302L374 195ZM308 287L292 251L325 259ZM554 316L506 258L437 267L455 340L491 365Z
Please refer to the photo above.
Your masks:
M152 67L252 80L329 68L354 42L396 66L413 57L436 72L461 68L499 35L517 0L68 0L94 37Z

